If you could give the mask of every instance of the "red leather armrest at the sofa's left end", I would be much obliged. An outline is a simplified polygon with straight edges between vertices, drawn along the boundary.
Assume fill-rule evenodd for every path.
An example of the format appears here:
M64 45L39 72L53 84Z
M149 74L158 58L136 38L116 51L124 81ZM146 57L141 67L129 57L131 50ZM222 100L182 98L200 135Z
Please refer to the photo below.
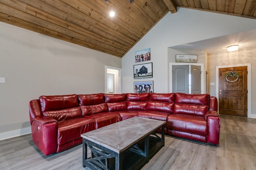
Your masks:
M33 118L31 124L32 139L44 155L57 151L57 121L46 116Z

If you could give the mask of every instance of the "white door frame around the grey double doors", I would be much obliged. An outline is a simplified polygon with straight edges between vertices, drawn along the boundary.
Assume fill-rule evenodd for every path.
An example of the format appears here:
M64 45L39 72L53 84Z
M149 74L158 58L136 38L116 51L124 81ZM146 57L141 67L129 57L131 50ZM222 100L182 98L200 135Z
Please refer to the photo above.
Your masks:
M205 88L204 88L204 84L206 84L204 75L205 74L205 70L204 70L204 64L203 63L170 63L169 64L169 92L172 93L172 66L173 65L195 65L195 66L201 66L201 94L206 93L205 92Z

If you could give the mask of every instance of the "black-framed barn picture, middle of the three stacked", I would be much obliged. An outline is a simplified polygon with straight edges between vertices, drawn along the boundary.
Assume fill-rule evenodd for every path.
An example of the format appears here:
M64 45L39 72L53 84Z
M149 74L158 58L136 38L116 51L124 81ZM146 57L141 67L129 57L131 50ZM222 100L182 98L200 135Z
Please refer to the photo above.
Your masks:
M153 77L153 63L138 64L133 66L134 78L150 78Z

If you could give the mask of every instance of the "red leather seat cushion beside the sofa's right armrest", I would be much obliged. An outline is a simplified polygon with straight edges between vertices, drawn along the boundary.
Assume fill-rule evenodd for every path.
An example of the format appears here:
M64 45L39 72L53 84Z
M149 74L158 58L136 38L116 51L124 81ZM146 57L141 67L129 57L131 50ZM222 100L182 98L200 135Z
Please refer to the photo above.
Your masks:
M173 114L167 117L167 128L194 134L208 135L208 125L204 117Z

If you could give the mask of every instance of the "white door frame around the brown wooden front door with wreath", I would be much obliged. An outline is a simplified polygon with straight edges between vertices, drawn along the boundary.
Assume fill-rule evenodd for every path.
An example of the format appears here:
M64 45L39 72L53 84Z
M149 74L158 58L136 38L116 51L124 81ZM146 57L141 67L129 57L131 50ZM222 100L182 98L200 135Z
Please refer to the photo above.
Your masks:
M256 118L256 115L252 115L252 64L251 63L246 63L246 64L234 64L234 65L224 65L224 66L216 66L216 98L218 100L219 104L219 68L228 68L228 67L239 67L239 66L247 66L247 117L249 118ZM218 107L219 110L219 107Z

